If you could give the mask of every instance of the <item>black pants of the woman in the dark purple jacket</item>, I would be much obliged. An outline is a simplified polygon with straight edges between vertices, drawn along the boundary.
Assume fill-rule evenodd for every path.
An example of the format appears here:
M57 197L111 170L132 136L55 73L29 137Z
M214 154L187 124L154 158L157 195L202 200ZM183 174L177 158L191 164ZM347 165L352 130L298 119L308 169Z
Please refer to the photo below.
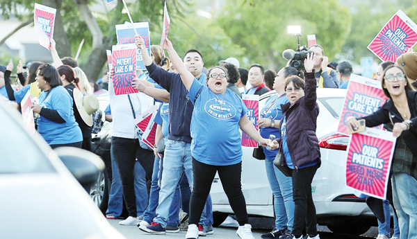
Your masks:
M313 195L311 195L311 182L313 182L317 168L318 164L293 170L293 199L295 209L292 234L295 238L302 236L304 227L306 227L306 233L310 237L317 235L316 206L314 206Z

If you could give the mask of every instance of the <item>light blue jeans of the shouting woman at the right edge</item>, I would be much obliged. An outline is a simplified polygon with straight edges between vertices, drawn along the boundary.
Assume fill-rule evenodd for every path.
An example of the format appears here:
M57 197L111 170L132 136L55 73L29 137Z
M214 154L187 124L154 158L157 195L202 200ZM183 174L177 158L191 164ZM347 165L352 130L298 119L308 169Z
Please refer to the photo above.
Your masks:
M417 179L400 172L393 174L391 182L400 239L417 239Z

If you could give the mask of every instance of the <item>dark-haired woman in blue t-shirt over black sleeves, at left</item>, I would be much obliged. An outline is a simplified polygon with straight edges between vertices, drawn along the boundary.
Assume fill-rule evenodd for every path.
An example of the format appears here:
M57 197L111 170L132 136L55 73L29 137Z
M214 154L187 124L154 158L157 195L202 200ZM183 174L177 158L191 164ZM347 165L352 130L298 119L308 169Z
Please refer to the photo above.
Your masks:
M70 146L81 148L83 135L75 121L72 98L62 86L58 71L50 64L39 67L36 80L42 89L38 104L32 105L38 132L51 148Z

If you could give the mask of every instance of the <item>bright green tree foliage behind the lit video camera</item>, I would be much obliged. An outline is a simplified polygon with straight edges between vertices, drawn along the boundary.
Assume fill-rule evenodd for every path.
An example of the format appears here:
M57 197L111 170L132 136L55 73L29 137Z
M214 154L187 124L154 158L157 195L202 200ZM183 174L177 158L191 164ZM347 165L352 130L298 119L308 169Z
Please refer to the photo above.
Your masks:
M275 71L286 64L282 51L297 47L297 38L287 33L287 26L302 26L302 44L306 35L315 34L332 58L350 33L350 21L347 8L336 0L230 0L218 17L225 33L246 49L247 66L256 62Z

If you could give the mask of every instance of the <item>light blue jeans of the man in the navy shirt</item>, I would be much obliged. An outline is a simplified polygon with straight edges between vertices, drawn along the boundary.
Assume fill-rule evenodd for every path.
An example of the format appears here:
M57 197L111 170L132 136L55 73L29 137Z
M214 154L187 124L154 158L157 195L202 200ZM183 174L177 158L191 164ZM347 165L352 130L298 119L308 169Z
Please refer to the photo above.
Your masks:
M165 228L175 190L183 172L186 173L190 188L193 186L193 161L191 157L191 143L167 140L165 143L165 159L161 191L159 191L158 207L154 222ZM191 191L193 191L191 189Z

